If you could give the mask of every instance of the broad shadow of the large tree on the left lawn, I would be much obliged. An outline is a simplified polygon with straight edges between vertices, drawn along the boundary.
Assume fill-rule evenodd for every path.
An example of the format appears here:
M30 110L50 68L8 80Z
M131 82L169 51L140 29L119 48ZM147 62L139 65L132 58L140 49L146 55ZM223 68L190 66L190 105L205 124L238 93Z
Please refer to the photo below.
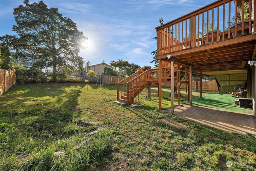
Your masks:
M35 136L57 135L82 114L77 106L84 86L74 83L20 85L18 97L21 98L12 94L16 93L15 89L1 97L1 122Z

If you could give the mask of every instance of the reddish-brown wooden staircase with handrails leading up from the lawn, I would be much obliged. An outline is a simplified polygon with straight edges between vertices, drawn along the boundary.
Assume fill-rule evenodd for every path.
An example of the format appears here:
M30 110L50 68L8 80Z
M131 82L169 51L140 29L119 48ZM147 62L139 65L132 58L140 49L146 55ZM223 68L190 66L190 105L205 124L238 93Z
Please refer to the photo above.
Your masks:
M177 68L174 65L174 68ZM162 64L162 83L170 83L170 63L164 62ZM177 73L174 72L174 80L177 79ZM176 77L175 77L176 76ZM127 104L134 104L134 99L139 93L148 86L148 84L158 84L158 69L150 69L146 71L139 70L136 73L121 80L117 84L117 101Z

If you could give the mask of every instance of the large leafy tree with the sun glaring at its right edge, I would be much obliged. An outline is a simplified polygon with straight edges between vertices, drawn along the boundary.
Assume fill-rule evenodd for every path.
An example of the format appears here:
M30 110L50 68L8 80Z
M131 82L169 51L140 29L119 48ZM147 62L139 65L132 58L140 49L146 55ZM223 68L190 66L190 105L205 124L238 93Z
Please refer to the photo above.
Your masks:
M34 59L35 66L52 68L53 80L65 65L82 70L83 60L78 55L87 38L70 18L63 17L58 8L48 8L43 1L29 3L14 8L17 36L5 35L0 38L17 52L19 58Z

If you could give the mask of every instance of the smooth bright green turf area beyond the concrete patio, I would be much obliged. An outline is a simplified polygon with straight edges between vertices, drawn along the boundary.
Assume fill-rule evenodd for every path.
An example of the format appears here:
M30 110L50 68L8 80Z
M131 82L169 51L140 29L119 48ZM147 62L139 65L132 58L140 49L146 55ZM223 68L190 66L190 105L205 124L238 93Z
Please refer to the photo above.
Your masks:
M234 100L235 99L232 97L231 94L218 94L214 92L208 92L207 94L202 95L202 99L199 96L194 97L192 100L192 105L213 107L217 109L224 109L243 113L253 113L252 109L245 109L239 107L239 105L235 105ZM182 102L189 104L189 102L186 100Z

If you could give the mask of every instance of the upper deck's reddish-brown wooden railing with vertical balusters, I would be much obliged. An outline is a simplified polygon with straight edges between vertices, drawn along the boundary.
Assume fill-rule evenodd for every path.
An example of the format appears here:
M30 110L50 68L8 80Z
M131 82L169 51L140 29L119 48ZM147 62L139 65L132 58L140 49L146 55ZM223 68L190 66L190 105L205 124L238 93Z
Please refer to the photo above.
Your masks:
M251 34L256 0L218 0L156 28L157 55Z

